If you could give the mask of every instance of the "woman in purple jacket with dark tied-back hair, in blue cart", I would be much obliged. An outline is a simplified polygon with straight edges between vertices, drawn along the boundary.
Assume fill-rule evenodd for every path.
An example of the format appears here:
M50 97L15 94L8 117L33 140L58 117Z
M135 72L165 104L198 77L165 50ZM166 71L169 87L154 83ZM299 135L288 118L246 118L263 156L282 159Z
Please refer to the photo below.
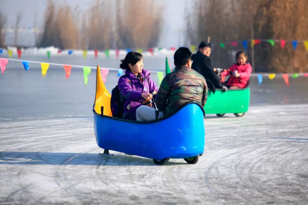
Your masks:
M142 101L152 99L158 87L150 78L150 72L143 69L143 56L131 51L121 60L120 68L125 71L118 81L120 94L125 98L123 118L136 120L136 109Z

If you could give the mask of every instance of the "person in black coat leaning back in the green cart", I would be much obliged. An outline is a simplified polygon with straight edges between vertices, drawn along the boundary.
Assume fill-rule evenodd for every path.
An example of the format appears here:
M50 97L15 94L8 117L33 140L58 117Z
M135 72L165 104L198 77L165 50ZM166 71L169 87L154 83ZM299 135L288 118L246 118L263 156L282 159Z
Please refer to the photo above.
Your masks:
M192 69L201 73L205 78L208 88L215 93L216 89L222 89L227 91L228 88L223 85L220 78L217 75L217 70L212 67L209 56L211 54L212 46L206 41L203 41L199 45L199 50L196 54L193 54L191 59L193 60Z

